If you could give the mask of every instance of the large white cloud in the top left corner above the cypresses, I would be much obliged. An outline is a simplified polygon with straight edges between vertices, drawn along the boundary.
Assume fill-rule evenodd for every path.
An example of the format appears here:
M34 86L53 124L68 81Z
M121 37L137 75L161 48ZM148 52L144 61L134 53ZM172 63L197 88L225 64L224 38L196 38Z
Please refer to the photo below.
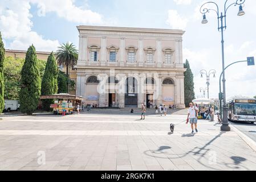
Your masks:
M0 2L0 31L5 40L10 40L10 49L26 50L34 44L38 51L55 51L59 46L58 40L44 39L42 35L32 31L29 1Z

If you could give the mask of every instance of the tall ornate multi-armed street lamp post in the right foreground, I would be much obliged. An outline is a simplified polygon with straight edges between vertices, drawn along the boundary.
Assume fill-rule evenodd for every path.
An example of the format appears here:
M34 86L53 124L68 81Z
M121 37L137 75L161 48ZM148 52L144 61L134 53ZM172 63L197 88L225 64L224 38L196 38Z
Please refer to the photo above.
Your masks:
M224 30L226 30L226 13L227 10L229 9L230 6L237 6L239 5L239 11L238 11L238 16L242 16L245 14L245 11L243 11L243 6L245 3L245 0L236 0L234 3L231 3L229 6L227 6L227 1L225 2L224 5L224 13L220 13L219 11L219 7L217 5L217 3L215 2L206 2L204 3L201 8L200 8L200 12L203 15L203 19L202 19L202 24L206 24L208 23L208 20L206 19L206 13L209 13L209 11L215 11L217 13L217 18L218 18L218 31L221 32L221 48L222 48L222 82L223 82L223 118L222 118L222 126L221 126L221 130L222 131L230 131L230 127L229 127L229 122L227 121L227 105L226 105L226 80L225 80L225 57L224 57ZM205 7L206 4L214 4L217 7L217 10L214 9L208 9L207 7ZM221 24L221 25L220 25Z

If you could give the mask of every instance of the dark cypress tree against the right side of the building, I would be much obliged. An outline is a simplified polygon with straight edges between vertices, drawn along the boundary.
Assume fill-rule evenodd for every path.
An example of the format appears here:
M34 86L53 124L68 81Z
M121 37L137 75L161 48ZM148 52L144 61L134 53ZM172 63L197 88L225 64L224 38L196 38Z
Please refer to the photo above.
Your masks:
M184 68L186 68L186 71L184 72L184 98L185 106L188 107L189 103L194 100L194 76L190 69L188 60L186 60Z

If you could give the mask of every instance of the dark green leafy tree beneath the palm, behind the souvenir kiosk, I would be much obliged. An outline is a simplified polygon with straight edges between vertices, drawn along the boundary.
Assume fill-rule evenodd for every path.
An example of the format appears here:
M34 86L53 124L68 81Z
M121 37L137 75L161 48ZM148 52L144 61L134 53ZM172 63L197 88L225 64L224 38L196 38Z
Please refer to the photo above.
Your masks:
M58 93L68 93L68 80L70 82L70 90L75 89L75 81L70 78L62 71L58 74Z

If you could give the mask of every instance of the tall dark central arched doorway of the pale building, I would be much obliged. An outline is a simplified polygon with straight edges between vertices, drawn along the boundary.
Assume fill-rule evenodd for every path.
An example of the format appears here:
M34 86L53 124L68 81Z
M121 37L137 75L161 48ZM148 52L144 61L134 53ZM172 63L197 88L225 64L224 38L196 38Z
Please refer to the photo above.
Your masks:
M125 107L137 107L138 106L138 89L137 80L135 77L128 77L125 81Z

